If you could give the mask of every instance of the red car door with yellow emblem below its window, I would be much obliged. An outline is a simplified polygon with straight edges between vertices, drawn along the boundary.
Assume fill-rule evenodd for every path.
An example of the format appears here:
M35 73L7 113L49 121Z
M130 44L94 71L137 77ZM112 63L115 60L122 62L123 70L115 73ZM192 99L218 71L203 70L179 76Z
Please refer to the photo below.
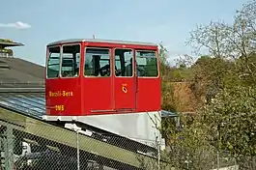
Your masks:
M114 48L114 105L118 111L132 111L136 106L136 78L134 50Z

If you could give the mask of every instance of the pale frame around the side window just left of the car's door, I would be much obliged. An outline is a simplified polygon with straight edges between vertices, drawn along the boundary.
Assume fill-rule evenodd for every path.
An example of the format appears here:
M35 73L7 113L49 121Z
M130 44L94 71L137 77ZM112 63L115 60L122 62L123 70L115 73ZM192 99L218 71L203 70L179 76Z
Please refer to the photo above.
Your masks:
M109 65L110 65L110 74L109 76L94 76L94 75L85 75L85 61L86 61L86 50L87 48L89 49L107 49L108 50L108 54L109 54ZM85 46L84 47L84 56L83 56L83 77L85 78L111 78L112 77L112 73L113 73L113 67L112 67L112 51L111 51L111 47L101 47L101 46Z

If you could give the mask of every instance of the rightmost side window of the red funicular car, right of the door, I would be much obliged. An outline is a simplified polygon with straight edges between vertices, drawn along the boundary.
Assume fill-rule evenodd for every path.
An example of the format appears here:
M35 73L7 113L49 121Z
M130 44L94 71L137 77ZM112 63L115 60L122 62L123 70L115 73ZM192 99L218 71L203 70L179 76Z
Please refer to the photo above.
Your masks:
M136 71L139 77L158 76L156 51L136 51Z

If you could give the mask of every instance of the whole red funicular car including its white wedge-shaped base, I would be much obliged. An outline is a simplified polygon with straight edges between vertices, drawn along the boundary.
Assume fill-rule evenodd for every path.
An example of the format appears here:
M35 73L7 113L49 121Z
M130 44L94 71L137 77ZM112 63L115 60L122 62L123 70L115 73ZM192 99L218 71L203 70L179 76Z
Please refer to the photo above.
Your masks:
M46 119L75 120L136 139L156 139L157 45L64 40L47 45ZM157 117L157 119L155 119Z

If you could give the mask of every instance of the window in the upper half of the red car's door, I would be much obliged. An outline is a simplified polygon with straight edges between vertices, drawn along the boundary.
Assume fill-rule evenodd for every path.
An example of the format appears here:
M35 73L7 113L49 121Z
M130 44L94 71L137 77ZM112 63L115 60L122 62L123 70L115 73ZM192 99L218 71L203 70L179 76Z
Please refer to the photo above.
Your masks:
M132 76L132 50L115 49L115 74L116 76Z

